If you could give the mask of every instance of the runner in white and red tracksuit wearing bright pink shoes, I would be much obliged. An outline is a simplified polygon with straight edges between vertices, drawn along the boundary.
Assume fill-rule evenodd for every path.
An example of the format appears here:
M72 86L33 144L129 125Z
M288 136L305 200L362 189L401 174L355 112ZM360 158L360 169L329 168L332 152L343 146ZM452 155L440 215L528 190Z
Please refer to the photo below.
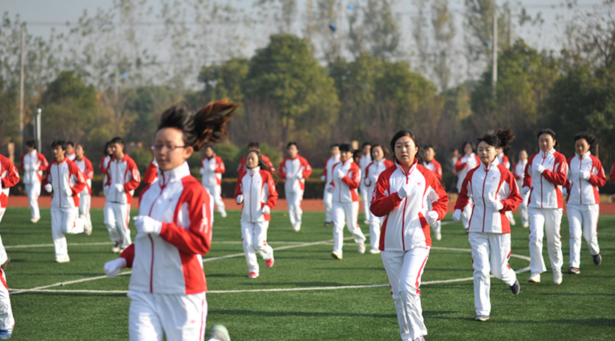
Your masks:
M246 171L239 172L235 198L241 209L241 240L245 261L248 263L248 278L259 275L256 251L269 268L273 266L273 248L267 243L267 229L271 221L271 209L276 206L277 191L273 174L259 151L245 155Z

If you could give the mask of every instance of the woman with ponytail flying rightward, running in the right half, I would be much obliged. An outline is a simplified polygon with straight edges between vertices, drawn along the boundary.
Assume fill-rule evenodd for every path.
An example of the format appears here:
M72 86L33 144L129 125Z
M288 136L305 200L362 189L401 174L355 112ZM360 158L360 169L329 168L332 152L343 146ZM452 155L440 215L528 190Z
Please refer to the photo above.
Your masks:
M499 147L506 148L515 136L510 128L488 131L478 139L481 164L470 170L461 186L453 219L472 198L474 202L468 240L472 246L474 267L474 308L477 321L486 321L491 312L489 273L510 286L513 294L520 290L515 271L508 265L510 257L510 221L507 211L522 202L515 177L496 157Z

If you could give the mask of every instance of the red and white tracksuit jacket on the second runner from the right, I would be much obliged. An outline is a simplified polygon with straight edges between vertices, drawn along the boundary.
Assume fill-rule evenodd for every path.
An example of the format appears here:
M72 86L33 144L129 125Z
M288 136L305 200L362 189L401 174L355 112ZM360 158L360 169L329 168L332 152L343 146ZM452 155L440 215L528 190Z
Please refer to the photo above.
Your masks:
M538 165L546 168L542 174L538 173ZM561 187L566 184L567 174L566 157L555 149L531 155L523 174L523 188L531 189L528 207L563 208Z

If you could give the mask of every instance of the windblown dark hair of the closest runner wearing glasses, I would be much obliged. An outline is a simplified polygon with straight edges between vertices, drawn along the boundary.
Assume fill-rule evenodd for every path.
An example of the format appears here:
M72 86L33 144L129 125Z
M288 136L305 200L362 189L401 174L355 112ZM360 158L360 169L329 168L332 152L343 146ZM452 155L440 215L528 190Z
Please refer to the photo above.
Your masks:
M177 128L183 133L185 146L191 146L199 151L205 144L218 143L226 132L226 121L232 116L239 104L224 100L208 103L196 114L188 109L185 102L175 104L162 112L158 130L162 128Z

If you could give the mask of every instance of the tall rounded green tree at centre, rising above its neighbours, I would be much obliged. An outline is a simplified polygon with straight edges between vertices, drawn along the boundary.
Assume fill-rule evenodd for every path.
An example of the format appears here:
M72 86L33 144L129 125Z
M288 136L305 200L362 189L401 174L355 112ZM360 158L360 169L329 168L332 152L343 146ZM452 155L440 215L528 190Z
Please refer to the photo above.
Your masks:
M242 88L247 100L269 103L277 112L280 147L289 139L315 144L337 118L333 79L312 56L308 43L296 36L272 35L269 45L250 60Z

